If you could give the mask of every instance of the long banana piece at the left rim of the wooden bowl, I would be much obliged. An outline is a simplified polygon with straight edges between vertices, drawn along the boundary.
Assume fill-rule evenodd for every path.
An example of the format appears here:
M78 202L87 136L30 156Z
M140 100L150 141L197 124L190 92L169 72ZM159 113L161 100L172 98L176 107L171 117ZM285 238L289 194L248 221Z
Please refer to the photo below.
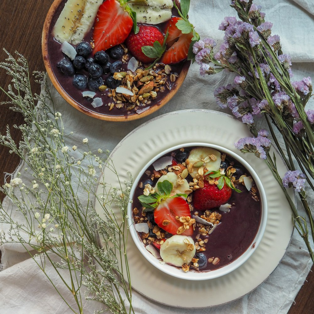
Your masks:
M95 21L101 0L68 0L52 30L57 41L81 42Z

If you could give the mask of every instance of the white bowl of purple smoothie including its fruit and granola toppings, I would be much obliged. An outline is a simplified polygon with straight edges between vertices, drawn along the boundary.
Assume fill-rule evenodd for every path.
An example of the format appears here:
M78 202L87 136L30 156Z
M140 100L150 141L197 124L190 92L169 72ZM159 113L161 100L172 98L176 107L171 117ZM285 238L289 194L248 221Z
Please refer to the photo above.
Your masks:
M187 143L160 152L130 192L133 241L154 267L176 278L206 280L240 267L267 221L256 172L234 152Z

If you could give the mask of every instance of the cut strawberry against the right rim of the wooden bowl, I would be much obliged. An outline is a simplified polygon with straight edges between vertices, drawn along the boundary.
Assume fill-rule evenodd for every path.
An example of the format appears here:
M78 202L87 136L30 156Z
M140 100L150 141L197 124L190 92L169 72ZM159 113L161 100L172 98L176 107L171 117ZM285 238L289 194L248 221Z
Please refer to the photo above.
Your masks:
M166 25L168 29L167 46L170 46L161 57L160 62L164 64L176 64L187 58L189 47L192 41L193 32L182 34L181 30L176 27L176 22L182 18L173 17Z

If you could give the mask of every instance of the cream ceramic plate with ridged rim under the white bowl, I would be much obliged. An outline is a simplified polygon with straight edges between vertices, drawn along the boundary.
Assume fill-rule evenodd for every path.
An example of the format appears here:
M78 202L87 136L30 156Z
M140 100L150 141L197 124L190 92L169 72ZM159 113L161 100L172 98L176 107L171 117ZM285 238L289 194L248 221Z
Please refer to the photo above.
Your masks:
M234 143L251 136L248 128L232 116L209 110L183 110L156 117L129 133L111 153L120 176L128 180L127 172L135 178L143 166L161 151L188 142L212 143L241 154ZM268 166L253 154L241 154L256 171L265 189L268 219L262 241L241 267L216 279L188 281L171 277L152 266L138 251L131 236L127 241L127 256L131 285L146 297L169 306L201 308L236 300L254 290L273 272L284 256L293 232L291 210L284 193ZM277 154L279 174L286 169ZM110 170L104 169L105 181L118 186ZM294 199L293 191L291 197ZM95 204L102 216L101 206ZM118 209L117 209L118 212ZM187 295L210 295L191 302Z

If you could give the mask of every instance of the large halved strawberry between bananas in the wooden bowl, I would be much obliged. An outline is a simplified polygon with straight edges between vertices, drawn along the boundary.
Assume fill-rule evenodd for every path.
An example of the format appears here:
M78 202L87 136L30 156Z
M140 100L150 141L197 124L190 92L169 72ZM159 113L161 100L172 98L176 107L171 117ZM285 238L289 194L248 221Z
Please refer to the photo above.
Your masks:
M126 40L133 27L127 9L127 6L122 7L117 0L106 0L100 5L94 24L94 53Z

